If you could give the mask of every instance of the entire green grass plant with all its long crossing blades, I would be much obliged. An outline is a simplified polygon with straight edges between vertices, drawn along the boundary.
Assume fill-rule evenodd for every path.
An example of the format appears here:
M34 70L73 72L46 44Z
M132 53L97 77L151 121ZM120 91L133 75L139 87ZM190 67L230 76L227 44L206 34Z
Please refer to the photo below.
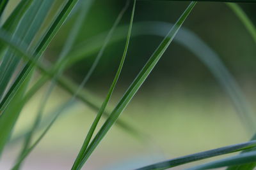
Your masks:
M182 27L182 24L189 16L189 13L191 13L194 6L196 5L196 1L193 1L189 4L188 8L184 10L175 24L167 25L170 31L168 31L166 35L163 35L161 34L162 32L158 32L156 29L154 29L157 24L159 24L159 27L163 27L163 23L152 22L133 24L134 13L136 11L136 0L134 0L132 3L133 6L129 27L117 27L129 6L130 1L128 0L116 18L116 21L113 24L111 30L108 32L108 34L104 34L106 36L105 40L103 42L101 41L103 37L105 37L104 35L96 36L90 40L90 44L85 41L82 48L81 45L74 46L74 43L79 34L79 31L81 30L81 24L86 17L88 12L87 10L90 8L90 4L93 2L93 0L66 1L61 7L60 11L55 14L56 16L52 19L51 24L49 24L49 20L47 21L46 18L47 14L52 10L52 6L54 6L54 1L22 0L8 16L8 18L4 20L3 11L5 10L6 4L8 4L8 2L8 0L0 2L0 17L3 21L0 29L0 155L3 153L4 146L6 146L10 139L13 127L19 118L22 108L24 108L25 104L28 103L29 99L35 94L35 92L40 89L40 87L44 85L44 83L50 79L52 80L52 83L49 86L47 93L45 93L42 103L40 104L40 108L33 122L33 125L30 129L28 129L28 132L25 132L20 137L25 138L25 142L17 158L17 162L12 169L20 169L24 159L26 159L33 148L35 148L35 146L40 142L44 135L49 131L51 125L54 124L61 113L74 103L75 99L80 99L84 104L87 104L96 110L97 116L95 117L95 120L93 121L92 126L88 131L86 138L84 139L83 146L81 147L81 150L76 157L72 169L81 169L84 166L86 160L89 159L92 152L99 145L100 141L104 138L104 136L106 136L107 132L115 123L116 125L119 125L119 127L122 127L122 129L125 131L129 132L129 134L132 136L138 139L142 139L143 141L147 141L142 132L137 131L131 125L127 125L125 122L120 120L119 117L125 110L127 104L129 104L131 101L132 97L136 94L138 89L140 89L143 82L147 79L147 76L154 69L159 59L161 59L163 53L166 51L170 43L172 43L173 38L176 36L177 32L180 30L180 27ZM227 3L227 5L230 7L230 9L234 10L236 15L243 22L246 29L248 29L252 35L253 40L255 41L256 29L254 25L243 12L243 10L241 10L241 8L239 8L239 6L234 3L256 3L256 1L220 0L220 2L230 2ZM65 20L67 20L72 9L74 6L76 6L77 3L81 3L81 6L77 7L77 10L74 11L74 13L77 13L78 15L74 23L74 27L72 27L72 30L70 31L58 61L53 64L50 69L47 69L46 64L40 60L40 58L42 58L42 55L44 54L46 48L49 46L49 43L61 28L61 25L63 25ZM43 20L45 21L44 23L42 23ZM47 29L42 29L43 27L47 27ZM115 109L111 111L111 113L108 113L106 111L106 106L111 99L111 95L113 94L116 83L122 71L122 66L125 62L125 56L128 51L130 38L131 36L135 36L131 34L131 31L132 29L143 30L143 27L153 28L152 31L146 31L144 34L157 34L158 36L163 36L164 39L157 47L156 51L152 54L150 59L148 59L148 62L141 69L140 73L131 83L124 96L120 99L118 104L116 104ZM125 33L127 29L128 32ZM114 34L113 32L115 30L119 33ZM250 106L248 106L246 103L243 92L239 89L239 86L237 85L232 75L229 73L228 69L224 66L221 60L218 59L218 55L214 53L211 48L209 48L209 46L207 46L203 41L197 38L192 32L189 32L186 29L181 29L181 32L183 32L185 38L178 38L175 41L179 41L183 46L186 46L186 48L195 53L198 59L202 60L205 66L211 70L212 74L216 77L216 79L220 82L220 85L223 87L223 89L225 89L228 96L230 96L232 99L241 119L246 125L248 125L248 129L254 132L255 120L253 119ZM120 65L116 71L113 83L111 84L111 87L109 87L109 91L106 98L104 99L104 102L99 105L92 100L93 96L90 96L90 94L88 94L88 92L86 92L83 87L99 63L99 59L103 55L106 46L110 43L113 43L113 41L118 41L124 38L125 34L127 34L127 39L124 47L124 53L122 55L122 59L120 60ZM191 41L186 41L186 37L190 37ZM84 45L88 45L88 47L84 48ZM83 82L80 85L76 85L76 83L72 82L72 80L70 80L67 76L63 75L63 71L65 69L72 66L78 60L81 60L91 53L96 52L97 50L99 50L99 53L95 58L91 69L88 71L88 74L86 74ZM21 68L18 67L19 64L22 65ZM42 76L32 87L29 88L29 83L35 69L38 69ZM18 71L19 74L15 74L15 71ZM61 105L60 108L56 110L56 113L51 115L49 119L47 118L47 120L51 120L50 123L45 123L45 125L42 127L44 128L42 134L40 134L36 141L32 142L31 139L35 135L35 132L39 129L38 124L42 121L42 113L55 85L59 85L62 89L72 94L72 97L68 99L68 101L66 101L63 105ZM100 127L97 134L95 134L95 129L98 126L102 115L106 117L106 121ZM95 134L94 137L93 134ZM166 169L196 160L239 151L243 152L234 157L228 157L226 159L191 167L191 169L209 169L224 166L230 166L228 169L253 169L256 162L255 151L252 151L254 148L255 141L253 138L252 141L247 143L226 146L224 148L195 153L177 159L166 160L164 162L159 162L150 166L141 167L140 169Z

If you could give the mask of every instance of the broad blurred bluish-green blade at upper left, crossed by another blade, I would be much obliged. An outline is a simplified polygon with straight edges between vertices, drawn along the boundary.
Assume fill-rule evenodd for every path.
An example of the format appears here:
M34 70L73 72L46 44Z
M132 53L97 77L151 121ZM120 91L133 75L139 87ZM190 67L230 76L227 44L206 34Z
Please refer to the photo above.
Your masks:
M30 44L36 32L40 29L42 20L45 19L45 15L52 2L53 1L34 1L28 11L26 11L22 20L20 20L20 24L13 33L13 37L22 39L20 43L25 42L26 44ZM19 62L20 57L18 57L11 48L8 48L0 67L0 97L4 95L4 90L7 90L6 87L14 71L17 71Z

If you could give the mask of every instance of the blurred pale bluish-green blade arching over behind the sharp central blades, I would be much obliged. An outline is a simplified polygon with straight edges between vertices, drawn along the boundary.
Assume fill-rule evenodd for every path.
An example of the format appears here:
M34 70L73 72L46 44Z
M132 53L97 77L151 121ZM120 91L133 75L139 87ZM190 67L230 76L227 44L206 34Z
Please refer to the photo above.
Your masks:
M172 24L166 22L141 22L134 24L134 33L132 36L140 35L156 35L156 36L165 36L168 32L168 28L172 27ZM127 26L119 27L116 29L115 36L111 40L111 43L120 41L124 39L124 32L127 29ZM70 53L72 57L69 57L67 62L67 67L72 66L75 62L92 55L93 52L97 51L102 43L100 39L104 37L104 34L84 41L81 45L78 45L75 48L74 52ZM200 39L196 34L189 31L188 29L180 29L179 34L173 39L180 45L188 48L188 50L195 54L198 59L200 59L205 66L211 71L218 83L220 83L223 90L228 94L234 106L236 108L239 117L242 122L246 124L248 131L253 131L255 129L255 116L253 115L252 109L246 101L246 97L242 90L239 88L236 80L232 74L228 71L227 67L221 62L220 57L214 50L207 46L202 39ZM90 46L89 48L83 48L83 46Z

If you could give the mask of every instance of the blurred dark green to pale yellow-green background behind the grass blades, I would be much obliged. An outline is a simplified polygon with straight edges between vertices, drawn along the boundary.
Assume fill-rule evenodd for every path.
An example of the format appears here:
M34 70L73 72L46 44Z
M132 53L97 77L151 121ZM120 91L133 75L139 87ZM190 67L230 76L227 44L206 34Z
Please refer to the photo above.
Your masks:
M61 1L56 0L56 8L58 3ZM17 1L10 4L10 11L15 4ZM87 42L86 45L90 45L90 39L109 31L124 4L125 1L118 0L93 1L76 45L83 45L84 41ZM256 5L239 5L256 24ZM138 1L134 23L154 21L173 24L186 6L188 2ZM61 27L45 52L45 60L55 62L58 59L75 17L76 13ZM129 24L130 17L131 6L125 12L120 26ZM234 12L225 3L198 3L183 27L194 32L218 53L255 113L255 41ZM132 34L136 32L132 31ZM131 38L120 81L108 106L109 111L113 110L161 39L163 37L152 35ZM113 81L124 45L125 39L108 45L85 86L99 104ZM67 69L65 74L80 83L96 55L97 51ZM22 111L13 136L19 135L29 127L48 85L45 85ZM56 87L47 103L45 117L70 97ZM29 155L24 169L70 169L94 117L94 110L77 101L65 111L40 145ZM207 66L175 41L166 50L120 118L142 132L145 140L134 138L120 127L114 126L84 169L132 169L159 160L245 142L252 136L252 131L248 131L246 125L241 122L232 101ZM8 169L12 165L19 148L19 142L6 148L0 169ZM193 164L198 162L177 169Z

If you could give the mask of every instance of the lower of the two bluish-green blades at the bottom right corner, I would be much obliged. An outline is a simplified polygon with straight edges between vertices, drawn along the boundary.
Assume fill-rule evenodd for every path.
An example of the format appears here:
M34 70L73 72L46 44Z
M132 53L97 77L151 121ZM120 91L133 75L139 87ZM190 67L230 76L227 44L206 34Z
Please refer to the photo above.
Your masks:
M243 153L240 155L228 157L221 160L215 160L213 162L202 164L200 166L191 167L186 170L214 169L218 167L234 166L234 165L237 166L237 165L248 164L252 162L256 162L256 151Z

